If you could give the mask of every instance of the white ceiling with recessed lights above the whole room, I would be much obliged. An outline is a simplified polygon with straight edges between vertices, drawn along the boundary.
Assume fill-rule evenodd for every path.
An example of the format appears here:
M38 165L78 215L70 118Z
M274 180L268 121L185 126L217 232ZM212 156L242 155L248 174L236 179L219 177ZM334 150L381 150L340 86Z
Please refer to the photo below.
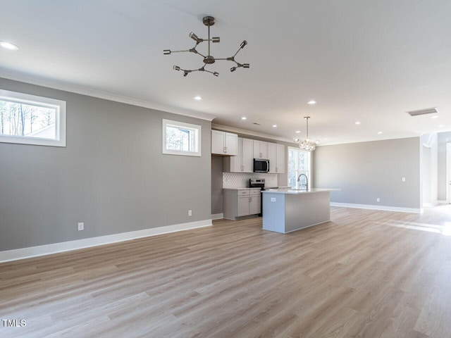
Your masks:
M304 136L304 115L321 144L451 131L450 0L0 0L0 8L0 40L19 46L0 49L3 77L213 115L276 139ZM205 15L221 37L211 55L232 56L246 39L237 61L249 69L230 73L230 61L206 67L219 77L172 69L203 65L163 49L192 48L190 32L206 38ZM206 43L198 50L207 54ZM406 113L430 107L438 118Z

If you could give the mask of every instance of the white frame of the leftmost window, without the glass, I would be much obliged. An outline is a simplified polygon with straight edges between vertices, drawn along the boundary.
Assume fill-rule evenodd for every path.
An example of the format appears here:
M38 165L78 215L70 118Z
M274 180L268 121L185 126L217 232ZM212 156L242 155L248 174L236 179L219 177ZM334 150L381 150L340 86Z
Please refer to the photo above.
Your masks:
M0 143L30 144L34 146L66 146L66 101L20 92L11 92L6 89L0 89L0 100L56 109L55 139L0 134Z

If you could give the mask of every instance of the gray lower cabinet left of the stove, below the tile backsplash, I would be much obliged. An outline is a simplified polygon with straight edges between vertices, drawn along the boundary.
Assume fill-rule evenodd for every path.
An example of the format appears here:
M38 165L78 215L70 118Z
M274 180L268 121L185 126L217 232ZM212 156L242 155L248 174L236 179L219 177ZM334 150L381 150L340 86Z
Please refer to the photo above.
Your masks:
M249 215L258 215L261 212L260 189L223 189L224 218L237 220Z

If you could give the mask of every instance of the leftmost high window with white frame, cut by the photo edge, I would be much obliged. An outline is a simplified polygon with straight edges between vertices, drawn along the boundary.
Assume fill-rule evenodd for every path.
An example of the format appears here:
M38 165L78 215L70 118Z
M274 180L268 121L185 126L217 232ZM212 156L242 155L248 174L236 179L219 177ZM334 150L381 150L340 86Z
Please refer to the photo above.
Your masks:
M0 89L0 142L66 146L66 102Z

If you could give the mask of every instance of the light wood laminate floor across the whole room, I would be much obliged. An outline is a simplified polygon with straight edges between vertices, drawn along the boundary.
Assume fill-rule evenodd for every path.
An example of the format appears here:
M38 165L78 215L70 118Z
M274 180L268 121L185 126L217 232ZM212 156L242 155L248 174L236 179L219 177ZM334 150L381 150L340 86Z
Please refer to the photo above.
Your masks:
M450 206L331 219L290 234L218 220L2 263L0 319L26 326L0 337L451 337Z

